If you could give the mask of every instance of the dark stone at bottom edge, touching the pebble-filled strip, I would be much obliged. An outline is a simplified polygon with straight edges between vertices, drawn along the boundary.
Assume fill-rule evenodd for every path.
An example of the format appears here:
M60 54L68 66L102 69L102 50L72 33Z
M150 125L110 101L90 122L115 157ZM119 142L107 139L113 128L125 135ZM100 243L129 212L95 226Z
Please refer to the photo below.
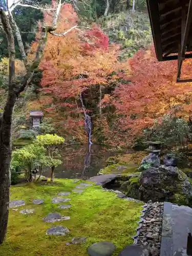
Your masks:
M137 245L127 245L124 249L119 253L119 256L149 256L150 252L143 247Z

